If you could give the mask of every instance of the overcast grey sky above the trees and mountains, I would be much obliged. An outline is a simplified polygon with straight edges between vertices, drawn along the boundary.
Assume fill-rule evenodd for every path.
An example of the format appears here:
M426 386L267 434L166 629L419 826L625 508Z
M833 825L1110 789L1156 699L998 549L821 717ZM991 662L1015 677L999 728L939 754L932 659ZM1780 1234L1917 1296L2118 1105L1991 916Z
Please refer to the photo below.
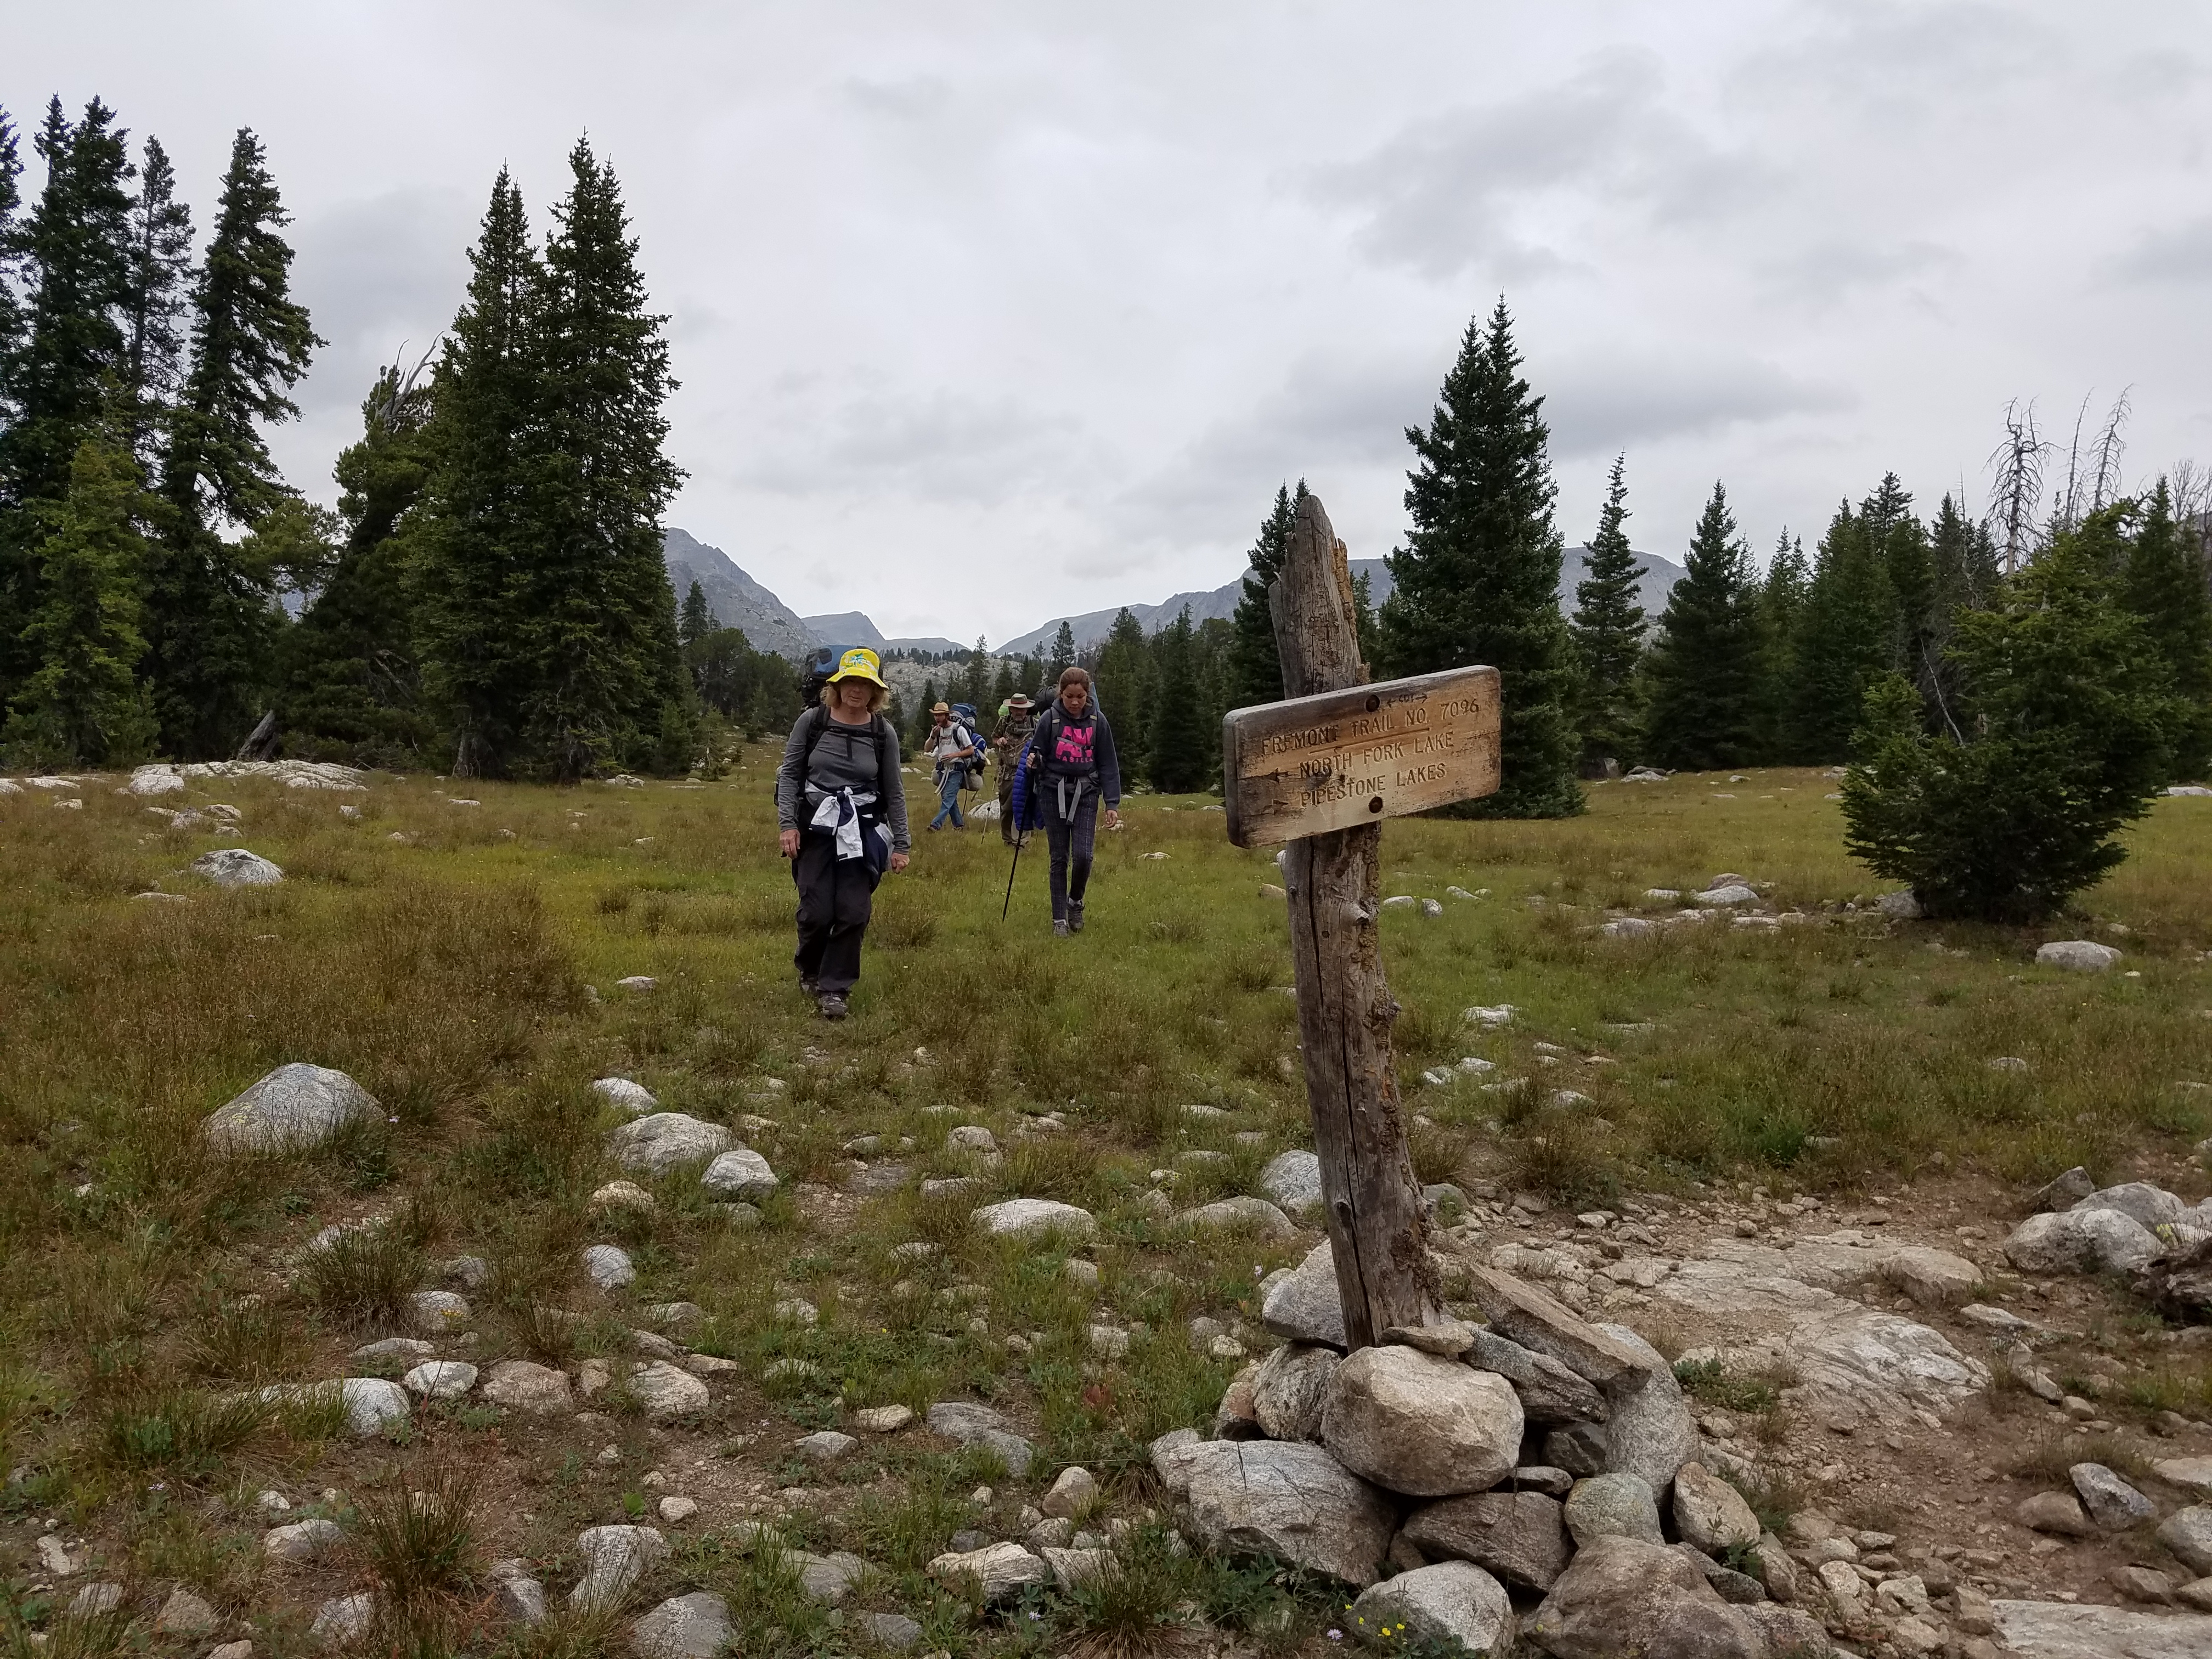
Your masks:
M1559 526L1719 478L1761 557L1896 469L1980 504L2011 398L2132 389L2130 478L2212 458L2212 7L920 7L73 0L0 104L93 93L208 223L252 126L330 341L301 489L451 321L500 164L588 131L670 314L670 522L803 613L993 639L1219 586L1305 476L1402 533L1407 422L1504 294ZM33 177L27 179L35 188Z

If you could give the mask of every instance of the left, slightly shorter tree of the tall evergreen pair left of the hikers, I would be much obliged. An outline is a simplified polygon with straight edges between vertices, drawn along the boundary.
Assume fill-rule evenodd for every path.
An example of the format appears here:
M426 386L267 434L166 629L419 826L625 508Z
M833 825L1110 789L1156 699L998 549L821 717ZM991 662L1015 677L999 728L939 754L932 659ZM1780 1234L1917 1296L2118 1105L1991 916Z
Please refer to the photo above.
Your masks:
M522 728L524 650L511 626L533 557L542 274L522 190L500 168L469 252L469 296L434 380L422 526L407 582L425 688L453 732L453 776L498 776Z

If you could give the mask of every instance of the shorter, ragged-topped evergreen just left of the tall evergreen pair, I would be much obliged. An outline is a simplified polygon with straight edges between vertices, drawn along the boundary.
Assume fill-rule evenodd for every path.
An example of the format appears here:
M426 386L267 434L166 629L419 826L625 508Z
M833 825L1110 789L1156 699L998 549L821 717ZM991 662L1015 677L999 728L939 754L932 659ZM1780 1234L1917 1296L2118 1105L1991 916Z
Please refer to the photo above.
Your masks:
M420 367L383 369L363 400L361 438L332 469L345 526L336 568L283 635L288 741L394 770L427 763L438 737L422 697L403 535L431 471L431 389Z

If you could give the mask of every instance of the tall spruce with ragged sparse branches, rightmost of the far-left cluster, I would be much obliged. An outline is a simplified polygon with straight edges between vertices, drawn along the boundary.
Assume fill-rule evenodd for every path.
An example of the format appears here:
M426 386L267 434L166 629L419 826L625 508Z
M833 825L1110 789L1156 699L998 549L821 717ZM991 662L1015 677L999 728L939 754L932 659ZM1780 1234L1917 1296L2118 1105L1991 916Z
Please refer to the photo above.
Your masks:
M228 754L272 690L276 573L219 535L252 529L292 491L263 427L299 416L292 387L321 345L292 299L292 221L250 131L239 128L192 285L192 363L168 416L153 564L155 708L177 754Z

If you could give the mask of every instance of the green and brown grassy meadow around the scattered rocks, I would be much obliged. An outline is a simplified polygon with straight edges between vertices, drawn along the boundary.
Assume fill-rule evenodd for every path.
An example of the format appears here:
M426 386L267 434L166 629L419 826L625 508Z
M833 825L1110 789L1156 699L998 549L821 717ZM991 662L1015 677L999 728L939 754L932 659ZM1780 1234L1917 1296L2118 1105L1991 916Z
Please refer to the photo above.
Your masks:
M748 1652L858 1650L845 1619L863 1608L911 1613L927 1648L953 1655L1066 1639L1106 1655L1177 1604L1267 1646L1314 1639L1312 1588L1190 1562L1161 1537L1137 1540L1144 1571L1121 1588L1046 1597L1037 1619L978 1617L920 1573L962 1526L1004 1537L1062 1462L1099 1473L1117 1513L1152 1502L1144 1442L1210 1420L1237 1369L1183 1325L1252 1323L1256 1276L1305 1248L1177 1234L1152 1199L1252 1192L1267 1157L1310 1144L1287 929L1261 896L1272 852L1230 847L1203 799L1133 796L1126 827L1099 836L1088 929L1053 940L1042 843L1002 922L995 825L922 834L916 803L914 865L878 891L854 1013L827 1024L790 967L772 770L757 748L706 785L469 783L462 805L462 785L431 779L367 794L199 779L159 803L232 803L228 832L175 832L115 794L119 779L62 792L82 810L38 790L0 799L0 1650L29 1650L40 1626L49 1655L204 1652L150 1632L170 1584L252 1621L257 1655L312 1650L314 1601L372 1586L394 1652L604 1650L608 1615L533 1632L491 1617L482 1568L529 1557L560 1604L577 1528L650 1520L646 1480L679 1460L721 1482L726 1509L783 1513L781 1542L670 1528L675 1555L630 1613L723 1590ZM2017 1188L2088 1164L2197 1197L2201 1172L2177 1161L2212 1128L2212 801L2159 801L2077 916L2020 933L1885 920L1843 854L1834 787L1820 772L1677 776L1597 785L1568 823L1387 825L1383 891L1444 907L1383 914L1420 1177L1586 1203L1721 1181ZM184 874L230 845L285 883L223 894ZM1798 920L1597 933L1613 914L1672 914L1646 889L1719 872ZM150 889L186 902L135 898ZM2042 938L2115 942L2126 960L2108 975L2042 969ZM622 991L626 975L657 989ZM1469 1024L1473 1004L1515 1015ZM1462 1057L1493 1071L1422 1082ZM352 1073L385 1121L307 1157L210 1159L199 1119L292 1060ZM619 1119L588 1088L604 1075L765 1152L783 1188L761 1225L728 1225L688 1175L639 1177L653 1212L593 1210L622 1175L604 1150ZM956 1124L991 1128L1002 1161L947 1150ZM863 1135L883 1137L869 1161L984 1188L856 1194L845 1148ZM973 1203L1013 1194L1097 1214L1097 1287L1060 1248L971 1234ZM365 1217L387 1221L372 1243L303 1254L316 1230ZM602 1241L637 1263L622 1301L577 1267ZM918 1241L938 1254L894 1254ZM692 1347L743 1374L677 1429L619 1387L611 1431L462 1400L367 1447L327 1411L234 1405L345 1374L456 1254L493 1270L469 1292L478 1365L624 1354L628 1310L692 1301ZM1126 1358L1093 1352L1097 1323L1130 1332ZM805 1367L770 1376L783 1358ZM1033 1433L1029 1482L925 1436L865 1442L832 1471L783 1449L849 1407L960 1394ZM971 1498L978 1484L993 1495ZM268 1564L250 1511L272 1486L341 1520L345 1548ZM40 1575L31 1542L46 1531L84 1537L97 1568ZM852 1548L880 1571L827 1610L796 1595L783 1548ZM93 1577L133 1599L62 1617Z

